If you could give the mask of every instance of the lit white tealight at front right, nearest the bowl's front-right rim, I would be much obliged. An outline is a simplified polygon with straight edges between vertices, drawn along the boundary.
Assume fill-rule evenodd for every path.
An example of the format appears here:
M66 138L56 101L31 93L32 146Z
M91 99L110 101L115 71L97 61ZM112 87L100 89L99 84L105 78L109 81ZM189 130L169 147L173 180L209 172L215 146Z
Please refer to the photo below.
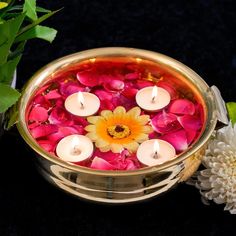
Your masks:
M168 142L160 139L151 139L143 142L137 150L137 158L146 166L160 165L175 158L175 148Z

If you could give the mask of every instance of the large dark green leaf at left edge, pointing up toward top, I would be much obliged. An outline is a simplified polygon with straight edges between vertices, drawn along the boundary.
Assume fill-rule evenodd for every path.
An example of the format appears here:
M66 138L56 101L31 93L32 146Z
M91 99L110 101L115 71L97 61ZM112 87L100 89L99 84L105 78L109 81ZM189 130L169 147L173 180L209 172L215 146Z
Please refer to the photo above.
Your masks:
M6 63L10 48L24 18L25 14L21 13L16 18L0 24L0 65Z

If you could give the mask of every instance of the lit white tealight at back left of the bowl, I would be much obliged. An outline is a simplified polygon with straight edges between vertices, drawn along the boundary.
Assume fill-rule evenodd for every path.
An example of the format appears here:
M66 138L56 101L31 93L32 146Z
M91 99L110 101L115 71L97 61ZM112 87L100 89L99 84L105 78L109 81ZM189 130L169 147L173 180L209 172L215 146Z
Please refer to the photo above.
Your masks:
M100 100L92 93L73 93L65 100L66 110L76 116L91 116L98 111L99 107Z

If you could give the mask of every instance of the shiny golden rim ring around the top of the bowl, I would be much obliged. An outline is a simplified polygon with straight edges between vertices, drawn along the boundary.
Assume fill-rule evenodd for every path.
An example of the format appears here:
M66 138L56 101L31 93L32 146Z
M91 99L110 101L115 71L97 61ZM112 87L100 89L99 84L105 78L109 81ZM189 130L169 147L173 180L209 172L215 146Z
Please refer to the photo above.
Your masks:
M165 162L160 165L144 167L137 170L130 170L130 171L103 171L103 170L96 170L87 167L82 167L78 165L73 165L68 162L62 161L58 157L51 155L47 151L43 150L33 139L30 135L26 122L25 122L25 110L27 107L27 102L29 101L32 92L35 91L36 88L40 85L45 78L47 78L50 74L58 69L66 67L72 63L76 63L82 60L101 57L101 56L125 56L125 57L137 57L141 59L147 59L153 62L158 62L159 64L164 64L172 68L173 70L178 71L182 75L186 76L189 81L191 81L197 89L200 91L201 96L205 99L205 104L207 106L207 119L205 130L203 131L202 135L199 139L191 146L190 149L181 153L177 156L177 158ZM194 83L197 81L197 84ZM34 88L34 89L33 89ZM94 48L89 50L80 51L77 53L69 54L67 56L58 58L56 60L51 61L49 64L45 65L41 69L39 69L33 76L28 80L22 90L22 96L18 102L18 122L17 122L17 129L25 140L25 142L37 153L40 157L45 158L47 161L67 168L71 171L81 172L86 174L95 174L95 175L102 175L102 176L133 176L133 175L141 175L141 174L151 174L153 172L161 171L167 169L173 165L176 165L188 157L192 156L196 151L200 148L203 148L206 142L211 137L212 132L215 129L217 123L217 116L216 116L216 105L214 102L214 95L211 92L208 84L192 69L190 69L185 64L177 61L174 58L171 58L167 55L149 51L145 49L138 49L138 48L128 48L128 47L103 47L103 48Z

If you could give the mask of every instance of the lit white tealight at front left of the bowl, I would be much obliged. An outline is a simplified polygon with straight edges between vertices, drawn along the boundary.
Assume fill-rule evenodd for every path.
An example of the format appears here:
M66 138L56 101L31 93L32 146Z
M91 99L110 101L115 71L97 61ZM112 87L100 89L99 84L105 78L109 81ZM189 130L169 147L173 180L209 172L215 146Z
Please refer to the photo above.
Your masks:
M69 135L58 143L56 153L64 161L84 161L92 156L93 143L86 136L77 134Z

